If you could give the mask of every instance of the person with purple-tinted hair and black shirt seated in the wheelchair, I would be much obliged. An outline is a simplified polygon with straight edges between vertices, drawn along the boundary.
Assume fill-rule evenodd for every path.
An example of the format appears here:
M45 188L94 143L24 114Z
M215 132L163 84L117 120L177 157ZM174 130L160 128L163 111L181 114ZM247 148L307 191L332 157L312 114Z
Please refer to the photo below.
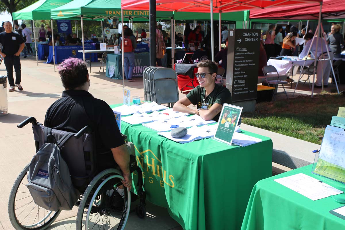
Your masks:
M129 151L117 126L114 112L109 105L94 98L89 92L90 78L86 63L68 58L58 66L65 91L62 97L47 110L45 126L68 132L78 132L90 126L95 132L98 169L121 169L122 183L131 188ZM111 153L100 154L111 150Z

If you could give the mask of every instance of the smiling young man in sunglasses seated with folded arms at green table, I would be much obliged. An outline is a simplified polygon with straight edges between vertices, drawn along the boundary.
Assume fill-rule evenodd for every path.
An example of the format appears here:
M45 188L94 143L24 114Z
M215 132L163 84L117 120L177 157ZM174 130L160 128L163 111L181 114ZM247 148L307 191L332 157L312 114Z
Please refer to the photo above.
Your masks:
M215 83L218 66L215 62L206 60L199 62L198 72L195 76L200 83L199 86L191 90L186 97L178 100L174 107L174 111L185 112L190 114L198 114L204 120L218 121L219 113L224 103L231 104L231 93L223 87ZM202 103L206 104L206 108L201 108ZM191 109L190 104L196 105L197 109Z

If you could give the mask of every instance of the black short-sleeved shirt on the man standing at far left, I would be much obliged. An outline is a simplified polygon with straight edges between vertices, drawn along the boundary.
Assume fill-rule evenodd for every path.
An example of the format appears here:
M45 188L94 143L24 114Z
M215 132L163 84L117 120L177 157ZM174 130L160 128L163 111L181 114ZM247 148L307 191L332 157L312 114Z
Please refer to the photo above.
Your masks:
M24 40L18 33L0 33L0 43L2 44L2 51L6 56L13 56L18 52L19 46L24 43Z

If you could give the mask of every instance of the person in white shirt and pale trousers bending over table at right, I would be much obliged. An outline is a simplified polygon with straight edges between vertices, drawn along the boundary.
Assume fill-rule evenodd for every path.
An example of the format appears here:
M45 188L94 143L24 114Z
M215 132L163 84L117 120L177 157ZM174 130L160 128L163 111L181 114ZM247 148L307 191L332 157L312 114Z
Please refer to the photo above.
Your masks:
M306 43L303 47L302 52L299 54L299 59L303 59L304 57L308 56L311 58L318 58L318 59L327 59L327 60L320 60L317 61L317 67L316 67L316 82L315 82L315 88L322 88L322 79L323 79L323 85L324 88L328 87L328 78L329 74L331 73L331 63L329 62L329 59L331 61L334 59L333 53L331 51L331 48L328 46L328 44L325 42L323 38L319 38L318 46L317 46L317 53L316 52L316 39L315 37L314 42L312 44L312 48L310 50L310 54L308 53L308 50L311 46L313 34L307 33L304 37L306 40ZM329 51L329 56L327 53L327 48Z

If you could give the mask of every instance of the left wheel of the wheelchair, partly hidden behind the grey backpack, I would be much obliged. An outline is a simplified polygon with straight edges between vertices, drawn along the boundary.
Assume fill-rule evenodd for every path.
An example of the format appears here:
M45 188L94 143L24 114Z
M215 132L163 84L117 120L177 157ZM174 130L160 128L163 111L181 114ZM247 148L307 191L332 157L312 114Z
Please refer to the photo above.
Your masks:
M61 210L49 211L33 201L26 187L29 166L30 164L21 171L13 184L8 201L8 214L11 224L16 230L43 230L59 216Z

